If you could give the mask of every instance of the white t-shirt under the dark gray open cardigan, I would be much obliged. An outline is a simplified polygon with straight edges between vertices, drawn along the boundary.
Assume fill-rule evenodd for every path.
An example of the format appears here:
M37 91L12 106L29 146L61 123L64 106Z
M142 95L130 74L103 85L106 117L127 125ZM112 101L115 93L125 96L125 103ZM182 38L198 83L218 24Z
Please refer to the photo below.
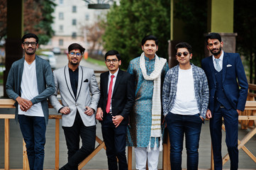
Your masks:
M35 96L38 96L38 81L36 79L35 60L32 62L32 64L28 64L25 60L21 79L21 98L31 100ZM20 106L18 106L18 114L44 117L43 108L40 102L35 103L26 112L21 111Z

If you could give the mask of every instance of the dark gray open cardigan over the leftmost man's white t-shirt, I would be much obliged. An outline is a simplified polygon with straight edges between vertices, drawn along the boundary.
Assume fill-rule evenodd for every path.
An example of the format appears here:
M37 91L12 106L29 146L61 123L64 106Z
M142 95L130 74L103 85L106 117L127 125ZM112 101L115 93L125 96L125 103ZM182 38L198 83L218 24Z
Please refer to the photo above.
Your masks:
M6 81L6 94L14 101L18 96L21 96L21 79L24 61L25 58L22 57L21 60L13 62ZM49 62L37 55L35 55L35 69L36 79L38 81L38 96L35 96L31 102L33 104L41 102L43 114L45 115L45 124L47 125L49 116L47 98L55 91L52 69ZM16 101L14 105L16 106L15 119L18 122L18 102Z

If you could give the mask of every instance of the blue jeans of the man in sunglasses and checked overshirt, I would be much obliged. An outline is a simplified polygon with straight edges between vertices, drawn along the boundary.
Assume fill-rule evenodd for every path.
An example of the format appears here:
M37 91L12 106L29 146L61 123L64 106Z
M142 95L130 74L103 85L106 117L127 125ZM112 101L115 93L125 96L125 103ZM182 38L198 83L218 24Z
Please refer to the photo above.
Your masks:
M170 161L172 170L182 169L182 149L184 134L186 137L187 169L198 169L199 139L203 121L196 115L178 115L168 113L165 117L171 144Z

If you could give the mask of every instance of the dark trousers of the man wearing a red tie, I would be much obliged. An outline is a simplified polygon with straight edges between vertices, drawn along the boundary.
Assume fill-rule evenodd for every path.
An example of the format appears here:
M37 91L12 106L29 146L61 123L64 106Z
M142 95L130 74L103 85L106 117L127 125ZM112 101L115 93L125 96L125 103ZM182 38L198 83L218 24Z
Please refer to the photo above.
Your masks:
M108 157L108 169L126 170L126 128L127 125L119 125L115 128L112 115L106 114L101 123L101 131L106 145L106 156ZM118 158L118 164L117 159Z

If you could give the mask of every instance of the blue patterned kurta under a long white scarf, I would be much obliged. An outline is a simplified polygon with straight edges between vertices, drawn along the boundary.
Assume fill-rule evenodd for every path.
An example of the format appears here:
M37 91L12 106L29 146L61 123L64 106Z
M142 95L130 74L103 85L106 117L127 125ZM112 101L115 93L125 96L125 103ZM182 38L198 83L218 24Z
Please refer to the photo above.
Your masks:
M155 69L155 58L149 60L145 57L145 67L150 75ZM165 79L169 67L167 62L162 69L161 81ZM150 142L150 131L152 123L152 95L154 89L153 80L145 80L140 69L140 57L130 61L128 73L134 75L135 79L135 105L130 113L130 125L128 126L128 146L148 147ZM159 139L157 146L159 145ZM151 147L154 147L155 137L151 137Z

